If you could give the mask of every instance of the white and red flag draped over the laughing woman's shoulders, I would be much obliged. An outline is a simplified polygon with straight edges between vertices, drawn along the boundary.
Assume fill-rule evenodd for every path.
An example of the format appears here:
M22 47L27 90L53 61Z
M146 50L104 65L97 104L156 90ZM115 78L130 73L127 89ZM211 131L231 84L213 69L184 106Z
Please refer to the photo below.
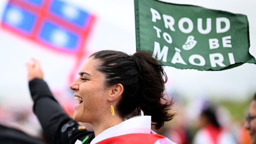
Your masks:
M86 138L88 140L88 138ZM75 144L87 141L77 140ZM151 116L138 116L112 126L96 136L90 144L176 144L151 130Z

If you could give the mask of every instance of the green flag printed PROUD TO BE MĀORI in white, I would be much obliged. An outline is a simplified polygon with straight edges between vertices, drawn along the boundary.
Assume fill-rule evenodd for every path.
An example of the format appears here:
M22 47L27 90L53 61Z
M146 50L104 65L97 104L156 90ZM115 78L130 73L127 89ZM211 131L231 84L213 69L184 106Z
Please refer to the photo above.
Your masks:
M134 0L136 50L165 66L224 70L254 63L246 15L157 0Z

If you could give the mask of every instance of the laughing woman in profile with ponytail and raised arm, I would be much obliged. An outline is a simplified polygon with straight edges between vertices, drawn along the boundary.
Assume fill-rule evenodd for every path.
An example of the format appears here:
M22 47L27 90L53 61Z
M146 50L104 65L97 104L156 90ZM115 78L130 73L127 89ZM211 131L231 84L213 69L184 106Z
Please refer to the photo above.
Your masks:
M163 65L149 52L92 54L70 85L78 100L74 120L42 80L39 62L27 63L27 69L34 112L54 144L174 144L151 130L151 124L159 129L175 114L170 113L173 101L164 98L167 77ZM94 133L77 122L91 123Z

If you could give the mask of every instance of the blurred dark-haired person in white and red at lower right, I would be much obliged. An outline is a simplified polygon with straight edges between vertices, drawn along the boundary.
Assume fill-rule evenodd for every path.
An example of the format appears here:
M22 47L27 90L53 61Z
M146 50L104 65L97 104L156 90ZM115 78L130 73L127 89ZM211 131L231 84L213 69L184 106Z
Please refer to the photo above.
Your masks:
M195 133L193 144L237 144L235 136L219 122L217 107L205 104L199 116L200 129Z

